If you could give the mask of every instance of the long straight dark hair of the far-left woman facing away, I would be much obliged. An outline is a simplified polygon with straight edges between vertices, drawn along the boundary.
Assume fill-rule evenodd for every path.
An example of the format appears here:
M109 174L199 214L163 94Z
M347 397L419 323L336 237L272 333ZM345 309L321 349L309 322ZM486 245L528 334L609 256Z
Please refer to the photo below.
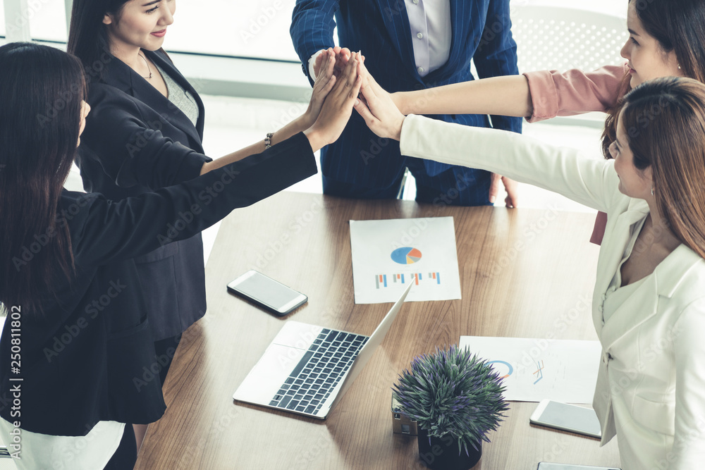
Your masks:
M80 62L31 43L0 47L0 302L42 311L40 292L73 271L58 211L78 143Z

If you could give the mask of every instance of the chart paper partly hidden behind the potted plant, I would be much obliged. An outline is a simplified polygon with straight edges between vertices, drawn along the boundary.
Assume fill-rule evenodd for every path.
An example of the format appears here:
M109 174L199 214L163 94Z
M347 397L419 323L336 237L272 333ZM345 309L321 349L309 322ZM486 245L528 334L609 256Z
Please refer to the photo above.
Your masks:
M459 345L486 359L503 377L505 400L592 403L599 341L461 336Z

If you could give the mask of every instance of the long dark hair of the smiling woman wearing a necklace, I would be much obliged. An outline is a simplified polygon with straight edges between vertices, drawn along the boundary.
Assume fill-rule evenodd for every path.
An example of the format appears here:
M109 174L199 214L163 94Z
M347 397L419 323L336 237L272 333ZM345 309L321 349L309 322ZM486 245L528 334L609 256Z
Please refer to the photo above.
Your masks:
M110 52L106 14L120 17L128 0L73 0L71 26L68 28L68 54L80 58L89 80L99 80L103 69L114 57ZM164 52L164 49L159 49ZM166 52L164 52L166 55Z

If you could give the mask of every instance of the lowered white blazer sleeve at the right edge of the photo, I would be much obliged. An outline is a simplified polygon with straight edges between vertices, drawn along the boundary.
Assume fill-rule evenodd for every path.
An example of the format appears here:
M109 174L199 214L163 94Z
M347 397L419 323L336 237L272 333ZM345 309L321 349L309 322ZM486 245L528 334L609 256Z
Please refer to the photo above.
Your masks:
M669 469L705 462L705 298L689 304L675 323L675 435Z

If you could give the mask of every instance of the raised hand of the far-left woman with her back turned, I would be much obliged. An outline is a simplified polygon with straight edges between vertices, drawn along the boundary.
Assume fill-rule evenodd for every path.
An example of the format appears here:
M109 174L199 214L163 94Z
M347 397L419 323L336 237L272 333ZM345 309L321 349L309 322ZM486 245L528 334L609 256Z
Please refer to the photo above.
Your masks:
M350 119L350 114L353 113L353 105L355 101L358 101L357 94L360 93L362 85L362 77L358 70L360 66L358 57L359 54L350 54L350 60L340 78L337 80L335 77L331 78L331 80L335 80L336 85L326 97L314 125L304 132L314 151L336 142L343 133L343 129Z

